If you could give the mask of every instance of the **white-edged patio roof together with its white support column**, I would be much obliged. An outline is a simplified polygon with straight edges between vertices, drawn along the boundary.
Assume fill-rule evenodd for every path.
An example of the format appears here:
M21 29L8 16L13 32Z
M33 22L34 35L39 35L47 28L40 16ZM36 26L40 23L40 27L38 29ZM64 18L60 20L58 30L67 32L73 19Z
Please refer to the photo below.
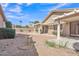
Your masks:
M72 12L69 12L67 14L64 14L64 15L53 18L54 21L58 22L58 24L57 24L57 39L60 39L60 20L72 21L72 19L73 19L73 21L75 21L76 19L78 20L78 18L79 18L78 15L79 15L79 10L74 9ZM73 17L73 16L75 16L75 17ZM73 18L71 18L71 17L73 17ZM76 17L78 17L78 18L76 18Z

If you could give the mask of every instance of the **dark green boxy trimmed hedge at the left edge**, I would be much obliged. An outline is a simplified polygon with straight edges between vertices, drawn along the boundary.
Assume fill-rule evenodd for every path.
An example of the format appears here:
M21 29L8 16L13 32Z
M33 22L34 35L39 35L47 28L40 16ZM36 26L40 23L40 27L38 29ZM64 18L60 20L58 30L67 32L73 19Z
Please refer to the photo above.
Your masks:
M8 39L15 37L15 30L9 28L0 28L0 39Z

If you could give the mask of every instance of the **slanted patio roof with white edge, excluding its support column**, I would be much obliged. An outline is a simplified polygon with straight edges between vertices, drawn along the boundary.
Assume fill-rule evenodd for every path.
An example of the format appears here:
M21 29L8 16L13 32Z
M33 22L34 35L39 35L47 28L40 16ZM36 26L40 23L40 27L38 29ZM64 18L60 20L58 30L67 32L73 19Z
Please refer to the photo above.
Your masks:
M61 15L61 16L58 16L58 17L55 17L53 19L54 19L54 21L57 21L57 20L76 21L76 20L78 20L77 18L79 18L78 15L79 15L79 10L74 9L72 12L69 12L67 14L64 14L64 15Z

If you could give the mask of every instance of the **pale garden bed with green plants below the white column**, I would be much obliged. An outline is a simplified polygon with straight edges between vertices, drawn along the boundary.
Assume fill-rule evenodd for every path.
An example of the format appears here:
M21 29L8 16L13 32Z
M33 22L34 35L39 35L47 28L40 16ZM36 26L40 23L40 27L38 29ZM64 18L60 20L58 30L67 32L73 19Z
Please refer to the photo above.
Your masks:
M75 50L75 48L73 47L73 45L79 42L77 40L72 40L72 39L52 39L52 40L47 40L45 43L50 46L50 47L56 47L56 48L69 48L69 49L73 49Z

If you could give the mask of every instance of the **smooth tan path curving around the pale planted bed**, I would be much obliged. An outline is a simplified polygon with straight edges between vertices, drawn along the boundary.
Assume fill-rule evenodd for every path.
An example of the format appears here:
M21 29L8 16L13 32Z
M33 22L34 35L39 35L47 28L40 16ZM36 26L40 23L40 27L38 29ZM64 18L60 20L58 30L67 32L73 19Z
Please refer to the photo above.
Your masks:
M47 47L45 41L48 39L56 38L53 35L45 34L30 34L33 37L33 41L36 41L35 47L40 56L76 56L78 55L75 51L66 48L52 48Z

